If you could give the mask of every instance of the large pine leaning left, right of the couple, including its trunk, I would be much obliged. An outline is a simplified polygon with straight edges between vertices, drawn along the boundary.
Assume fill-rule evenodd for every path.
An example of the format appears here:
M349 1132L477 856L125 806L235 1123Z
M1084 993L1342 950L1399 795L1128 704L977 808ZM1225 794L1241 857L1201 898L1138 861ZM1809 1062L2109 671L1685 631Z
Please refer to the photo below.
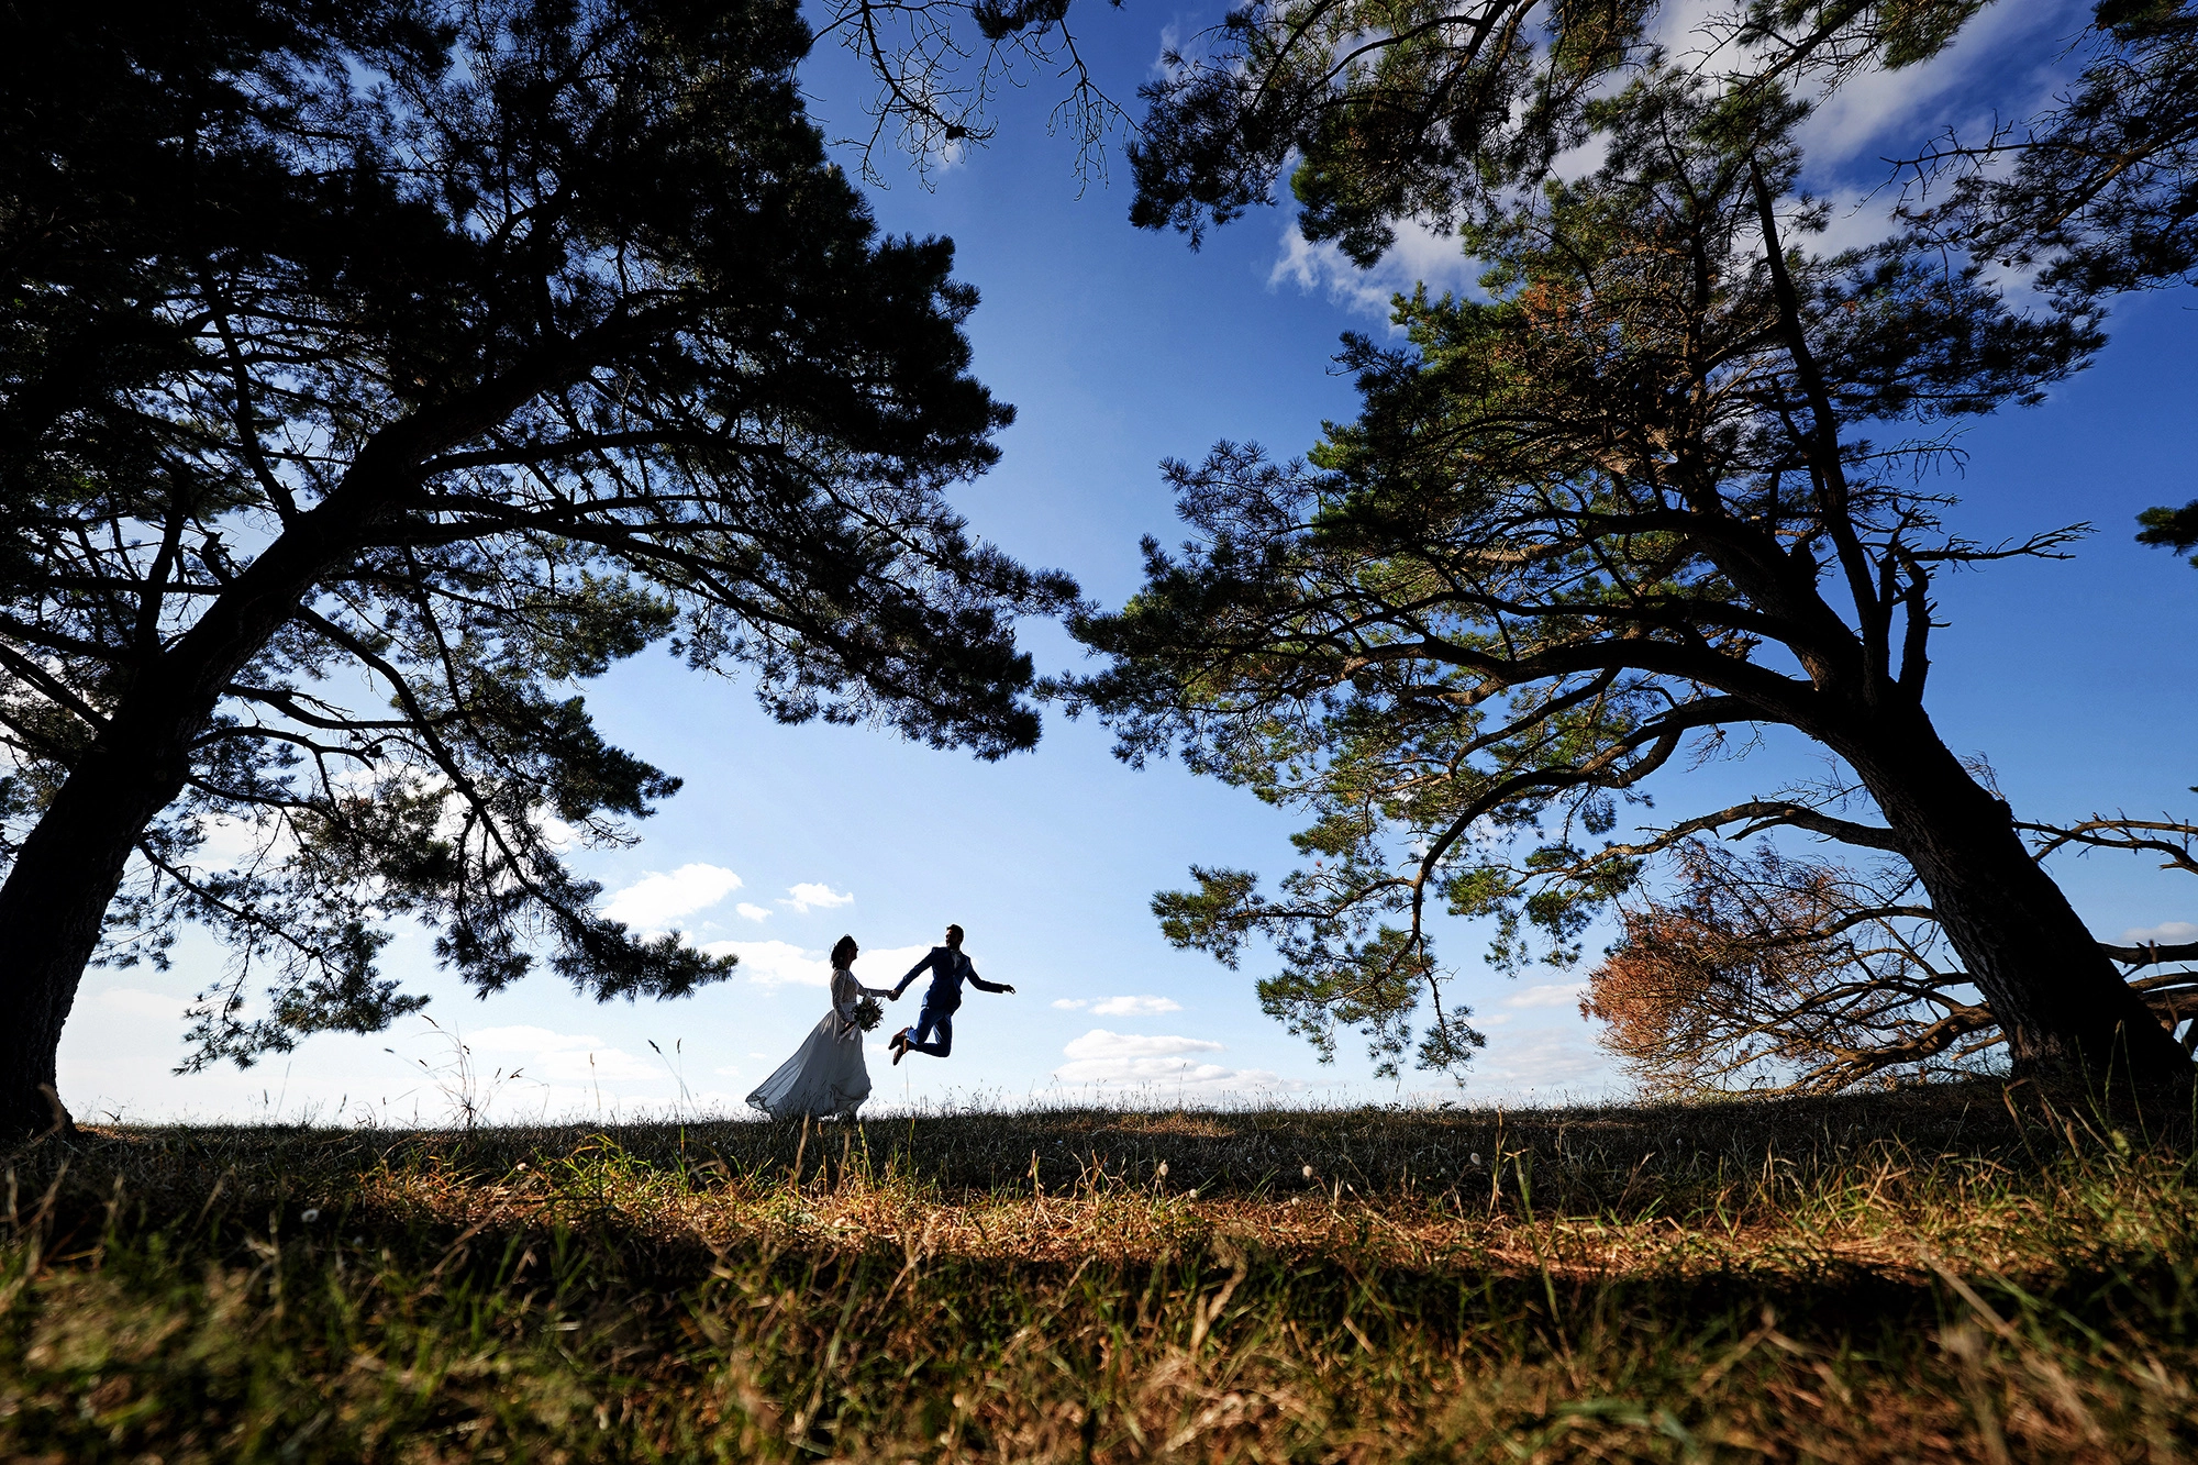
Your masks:
M1673 70L1585 108L1600 167L1466 200L1486 299L1422 290L1405 348L1350 339L1363 409L1310 462L1169 464L1198 537L1147 541L1145 587L1077 623L1112 664L1075 695L1128 757L1176 746L1312 816L1277 897L1200 869L1154 908L1231 963L1268 937L1262 1001L1323 1054L1356 1025L1394 1065L1422 992L1422 1065L1479 1043L1431 902L1495 917L1499 966L1563 963L1646 853L1794 825L1912 864L2018 1065L2183 1069L1923 711L1934 576L2077 532L1969 541L1930 471L1954 422L2079 370L2095 319L2013 310L1914 233L1807 251L1800 117ZM1758 726L1835 752L1884 823L1785 794L1605 838L1653 772Z

